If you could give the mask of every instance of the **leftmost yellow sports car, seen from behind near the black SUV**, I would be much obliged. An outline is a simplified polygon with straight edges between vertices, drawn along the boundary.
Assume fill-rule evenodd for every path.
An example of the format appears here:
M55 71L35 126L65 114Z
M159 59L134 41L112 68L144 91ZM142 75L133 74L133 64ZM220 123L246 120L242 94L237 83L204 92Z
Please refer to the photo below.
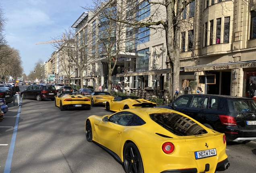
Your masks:
M63 93L55 96L55 106L60 108L60 111L65 109L87 109L91 110L91 101L83 95L76 93Z

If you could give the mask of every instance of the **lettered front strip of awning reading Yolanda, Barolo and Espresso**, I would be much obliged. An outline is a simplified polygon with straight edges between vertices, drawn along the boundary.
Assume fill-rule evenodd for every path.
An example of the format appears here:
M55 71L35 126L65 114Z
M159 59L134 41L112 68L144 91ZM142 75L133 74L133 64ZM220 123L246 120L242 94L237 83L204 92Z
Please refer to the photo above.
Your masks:
M225 65L208 65L202 67L184 67L185 72L193 71L206 71L206 70L226 70L234 68L251 68L256 67L256 62L251 63L237 63L237 64L225 64Z

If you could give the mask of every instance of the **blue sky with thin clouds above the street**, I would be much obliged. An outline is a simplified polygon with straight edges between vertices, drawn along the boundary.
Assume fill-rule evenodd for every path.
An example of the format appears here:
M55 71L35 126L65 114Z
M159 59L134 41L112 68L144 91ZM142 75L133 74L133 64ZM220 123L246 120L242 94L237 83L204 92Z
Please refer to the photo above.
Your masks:
M20 51L23 73L29 74L41 58L47 61L54 48L39 44L62 35L92 5L91 0L1 0L8 19L4 34L8 44Z

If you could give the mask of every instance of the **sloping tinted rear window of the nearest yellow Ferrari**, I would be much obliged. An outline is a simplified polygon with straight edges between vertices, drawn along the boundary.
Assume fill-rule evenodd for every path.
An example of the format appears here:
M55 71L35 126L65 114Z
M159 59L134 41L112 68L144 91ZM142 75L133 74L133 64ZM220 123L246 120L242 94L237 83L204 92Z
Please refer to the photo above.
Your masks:
M177 113L154 113L149 115L157 124L178 136L201 135L208 133L188 117Z

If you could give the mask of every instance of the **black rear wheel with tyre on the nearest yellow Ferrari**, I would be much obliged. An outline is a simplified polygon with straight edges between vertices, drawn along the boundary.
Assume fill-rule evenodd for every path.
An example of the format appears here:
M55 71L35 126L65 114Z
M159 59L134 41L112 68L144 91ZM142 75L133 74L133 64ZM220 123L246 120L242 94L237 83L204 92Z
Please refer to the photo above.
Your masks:
M144 173L140 152L134 143L124 148L124 168L126 173Z

